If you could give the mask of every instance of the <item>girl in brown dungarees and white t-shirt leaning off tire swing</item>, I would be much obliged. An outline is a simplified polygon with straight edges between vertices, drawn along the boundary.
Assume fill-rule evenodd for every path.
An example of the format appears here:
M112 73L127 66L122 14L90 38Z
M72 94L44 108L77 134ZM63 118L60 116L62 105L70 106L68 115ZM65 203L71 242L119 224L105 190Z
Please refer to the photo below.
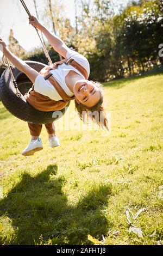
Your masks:
M87 80L90 74L90 65L87 59L68 48L64 41L58 36L52 35L34 16L29 19L29 24L39 29L46 36L54 50L65 59L51 66L46 66L39 73L12 54L0 38L0 50L3 54L34 83L26 95L28 103L40 111L58 111L64 108L68 101L74 99L80 119L83 119L84 112L97 112L98 117L95 118L92 115L93 121L109 130L108 120L102 105L102 86L99 83ZM42 142L39 137L42 124L28 123L28 126L32 139L27 148L22 151L24 156L33 155L36 151L42 149ZM45 126L49 136L49 146L57 147L59 141L55 136L54 125L50 123L45 124Z

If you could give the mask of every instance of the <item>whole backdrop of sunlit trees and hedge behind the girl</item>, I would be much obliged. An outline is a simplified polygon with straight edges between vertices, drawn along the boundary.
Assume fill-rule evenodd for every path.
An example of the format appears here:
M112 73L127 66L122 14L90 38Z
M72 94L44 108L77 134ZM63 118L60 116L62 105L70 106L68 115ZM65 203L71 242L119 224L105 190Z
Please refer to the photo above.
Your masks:
M158 56L163 42L162 1L133 1L122 8L113 0L76 0L75 27L66 17L64 1L54 4L46 0L45 6L42 17L39 15L42 22L68 47L87 57L91 80L103 82L141 74L163 63L163 57ZM119 9L116 12L115 7ZM13 51L18 56L47 63L41 48L23 53L11 34L10 46L14 45ZM47 45L47 48L53 62L59 60L52 47Z

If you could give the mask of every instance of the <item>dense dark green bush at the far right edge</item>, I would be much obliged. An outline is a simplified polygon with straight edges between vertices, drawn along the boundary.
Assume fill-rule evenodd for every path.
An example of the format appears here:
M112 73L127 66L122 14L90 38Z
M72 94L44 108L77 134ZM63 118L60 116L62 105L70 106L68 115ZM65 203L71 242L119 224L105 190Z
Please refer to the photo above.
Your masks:
M141 5L131 5L114 18L116 59L124 64L135 64L143 71L156 65L158 46L163 41L162 4L160 1L142 1ZM122 75L123 76L123 73Z

